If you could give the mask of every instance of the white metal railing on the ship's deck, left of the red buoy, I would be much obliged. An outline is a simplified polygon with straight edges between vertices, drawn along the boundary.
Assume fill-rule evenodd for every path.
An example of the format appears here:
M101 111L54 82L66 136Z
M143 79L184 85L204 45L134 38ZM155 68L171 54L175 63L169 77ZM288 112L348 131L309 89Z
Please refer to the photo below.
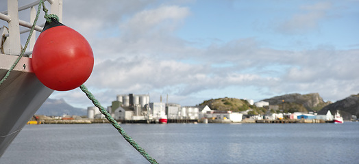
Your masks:
M45 0L48 1L51 5L51 14L56 14L60 22L62 22L62 0ZM21 7L18 7L18 0L8 0L8 10L0 12L0 19L5 20L8 22L8 31L5 30L5 27L1 27L0 36L1 42L1 51L0 53L4 54L10 54L10 55L20 55L21 53L21 38L20 34L28 32L32 28L32 23L34 22L34 19L36 17L36 6L38 6L38 3L40 3L40 0L34 1L33 3L29 3L28 5L23 5ZM18 12L22 10L30 9L30 20L29 22L25 20L18 19ZM25 29L23 31L20 31L20 26L27 27L28 29ZM36 25L34 32L39 31L41 32L43 28L42 25ZM5 39L5 42L3 42L3 38ZM27 52L25 52L25 55L32 54L32 49L34 49L34 45L36 42L36 34L33 33L30 41L29 41L29 49Z

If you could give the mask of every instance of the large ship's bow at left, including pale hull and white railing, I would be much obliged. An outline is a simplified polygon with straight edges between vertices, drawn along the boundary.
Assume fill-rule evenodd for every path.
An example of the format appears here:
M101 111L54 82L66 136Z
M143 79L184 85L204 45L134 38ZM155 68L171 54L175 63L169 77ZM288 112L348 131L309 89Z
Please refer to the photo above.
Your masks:
M17 0L8 0L8 10L0 13L0 19L8 22L8 27L0 29L0 80L5 77L12 67L18 55L21 54L19 26L31 29L36 16L36 6L40 1L18 7ZM57 14L62 20L62 0L51 0L51 13ZM30 20L19 20L18 12L28 12ZM36 31L42 31L42 27L36 25ZM53 93L53 90L45 87L32 70L31 56L36 41L35 30L29 42L29 47L18 64L10 72L8 78L0 84L0 157L10 145L12 140L20 133L27 121L36 113L43 102ZM27 35L26 35L27 36Z

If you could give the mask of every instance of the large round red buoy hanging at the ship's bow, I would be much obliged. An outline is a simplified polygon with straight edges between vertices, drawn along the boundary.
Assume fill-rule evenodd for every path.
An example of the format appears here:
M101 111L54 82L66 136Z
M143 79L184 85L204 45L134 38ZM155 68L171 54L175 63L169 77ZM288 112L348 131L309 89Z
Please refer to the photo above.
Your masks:
M32 68L42 84L52 90L73 90L90 77L93 64L84 36L55 19L46 23L32 51Z

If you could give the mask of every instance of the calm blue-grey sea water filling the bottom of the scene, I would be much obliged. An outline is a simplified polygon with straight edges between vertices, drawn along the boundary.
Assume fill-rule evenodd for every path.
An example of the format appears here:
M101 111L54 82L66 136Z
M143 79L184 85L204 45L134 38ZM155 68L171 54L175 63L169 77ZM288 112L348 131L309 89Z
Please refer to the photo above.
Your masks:
M359 163L359 122L121 124L158 163ZM0 163L148 163L110 124L27 125Z

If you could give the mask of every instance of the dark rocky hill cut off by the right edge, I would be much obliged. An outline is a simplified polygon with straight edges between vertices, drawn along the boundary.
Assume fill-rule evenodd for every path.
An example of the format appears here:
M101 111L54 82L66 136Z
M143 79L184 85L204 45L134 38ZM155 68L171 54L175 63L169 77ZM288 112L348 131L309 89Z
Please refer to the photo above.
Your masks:
M333 104L327 105L319 114L325 114L330 110L332 114L339 110L344 120L350 120L351 115L356 115L359 118L359 94L351 95L343 100L338 100Z

